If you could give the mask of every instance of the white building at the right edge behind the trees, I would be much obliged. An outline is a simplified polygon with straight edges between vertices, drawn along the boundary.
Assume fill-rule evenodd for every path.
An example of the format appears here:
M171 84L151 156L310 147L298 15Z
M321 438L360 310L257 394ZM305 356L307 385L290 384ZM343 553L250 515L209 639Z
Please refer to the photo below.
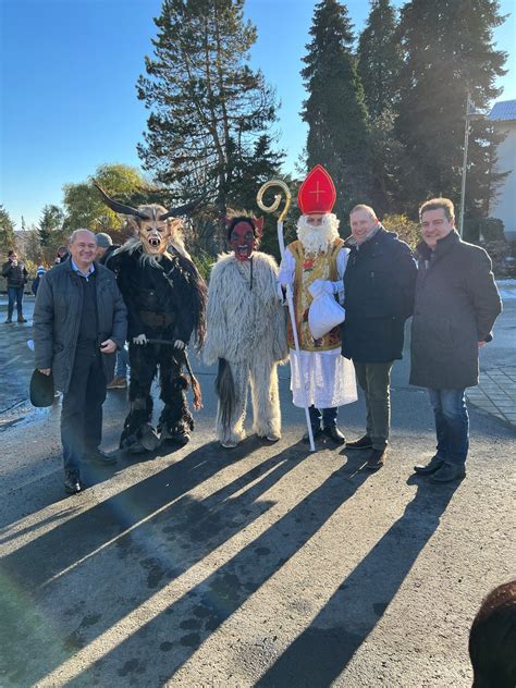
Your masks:
M496 171L509 172L489 205L489 217L502 220L505 237L516 242L516 100L495 102L488 119L506 134L496 150Z

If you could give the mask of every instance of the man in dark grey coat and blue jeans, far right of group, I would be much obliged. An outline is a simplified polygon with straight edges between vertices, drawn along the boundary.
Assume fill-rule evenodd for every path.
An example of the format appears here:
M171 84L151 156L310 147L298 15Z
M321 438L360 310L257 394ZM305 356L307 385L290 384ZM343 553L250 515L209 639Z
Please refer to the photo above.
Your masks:
M423 241L411 327L410 384L428 388L435 416L437 454L415 466L432 482L466 475L469 418L466 388L478 384L478 349L492 340L502 303L483 248L455 231L453 202L433 198L419 209Z

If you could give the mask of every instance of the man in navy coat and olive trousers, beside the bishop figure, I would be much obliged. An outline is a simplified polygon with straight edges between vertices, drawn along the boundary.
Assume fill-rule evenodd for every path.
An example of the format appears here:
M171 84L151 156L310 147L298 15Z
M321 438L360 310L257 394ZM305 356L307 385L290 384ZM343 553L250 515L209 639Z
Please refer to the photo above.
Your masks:
M417 268L410 248L388 232L369 206L349 216L351 248L344 273L342 355L351 358L366 397L366 434L346 449L370 450L367 468L385 460L391 426L390 383L402 358L405 320L411 315Z

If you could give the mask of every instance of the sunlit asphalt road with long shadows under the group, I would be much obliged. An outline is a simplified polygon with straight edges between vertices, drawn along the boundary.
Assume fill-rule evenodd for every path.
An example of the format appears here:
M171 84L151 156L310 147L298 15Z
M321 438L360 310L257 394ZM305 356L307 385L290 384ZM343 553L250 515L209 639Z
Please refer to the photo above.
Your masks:
M511 351L514 363L506 314L490 366ZM514 429L474 408L467 478L414 478L434 437L405 360L389 460L369 475L360 453L298 442L283 368L283 439L224 451L213 370L197 364L205 408L192 443L120 455L64 497L59 402L23 403L30 328L0 327L2 688L471 685L471 619L515 570ZM126 393L110 392L107 450L125 413ZM340 425L355 439L363 419L359 401Z

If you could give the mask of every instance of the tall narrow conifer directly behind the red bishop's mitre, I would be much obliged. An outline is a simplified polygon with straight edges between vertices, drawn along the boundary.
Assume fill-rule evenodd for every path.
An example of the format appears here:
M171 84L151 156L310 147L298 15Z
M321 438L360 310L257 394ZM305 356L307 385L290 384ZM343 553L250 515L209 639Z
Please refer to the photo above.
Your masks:
M343 220L356 202L370 199L367 109L345 5L321 0L310 35L302 71L309 94L302 113L308 124L307 167L328 169L337 189L334 211Z

